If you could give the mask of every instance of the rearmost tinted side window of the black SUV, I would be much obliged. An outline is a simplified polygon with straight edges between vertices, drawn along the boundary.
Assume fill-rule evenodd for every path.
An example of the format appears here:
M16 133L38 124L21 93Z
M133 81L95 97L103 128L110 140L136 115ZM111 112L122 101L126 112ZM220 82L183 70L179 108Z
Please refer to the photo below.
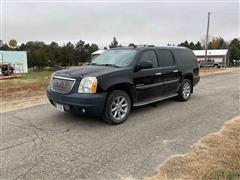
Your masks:
M175 55L185 67L192 68L197 64L197 59L191 51L175 51Z

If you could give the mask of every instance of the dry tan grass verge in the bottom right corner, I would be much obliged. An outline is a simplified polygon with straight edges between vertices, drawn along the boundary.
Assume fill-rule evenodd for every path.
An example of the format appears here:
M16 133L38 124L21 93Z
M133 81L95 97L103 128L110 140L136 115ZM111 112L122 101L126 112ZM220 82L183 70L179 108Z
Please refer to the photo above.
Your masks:
M240 116L200 139L189 153L165 161L147 179L240 179Z

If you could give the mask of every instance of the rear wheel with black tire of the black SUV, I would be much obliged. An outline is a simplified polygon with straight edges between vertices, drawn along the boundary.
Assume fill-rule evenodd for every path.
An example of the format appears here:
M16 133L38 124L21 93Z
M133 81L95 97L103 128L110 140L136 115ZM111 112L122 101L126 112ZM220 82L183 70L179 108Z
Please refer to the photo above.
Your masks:
M191 97L192 83L189 79L183 79L179 91L178 99L180 101L187 101Z

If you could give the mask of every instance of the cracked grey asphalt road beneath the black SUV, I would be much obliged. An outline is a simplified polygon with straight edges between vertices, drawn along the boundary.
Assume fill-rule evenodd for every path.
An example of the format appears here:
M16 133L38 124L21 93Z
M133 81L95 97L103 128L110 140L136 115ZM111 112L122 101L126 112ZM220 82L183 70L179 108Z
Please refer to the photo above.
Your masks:
M4 113L1 179L141 179L239 114L239 72L202 78L190 101L135 109L118 126L50 104Z

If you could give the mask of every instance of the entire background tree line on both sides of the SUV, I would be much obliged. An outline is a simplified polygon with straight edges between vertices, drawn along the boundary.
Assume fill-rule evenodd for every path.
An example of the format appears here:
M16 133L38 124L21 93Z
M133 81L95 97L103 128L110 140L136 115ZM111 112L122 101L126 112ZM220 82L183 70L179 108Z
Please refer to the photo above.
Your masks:
M2 41L1 41L2 42ZM76 44L68 42L64 45L59 45L56 42L46 44L42 41L29 41L17 45L17 41L12 39L8 43L1 43L0 50L15 50L27 51L28 66L43 68L46 66L73 66L79 65L91 59L91 53L99 49L97 44L85 43L79 40ZM178 46L187 47L191 50L204 49L204 42L197 43L184 41ZM128 46L136 46L134 43L129 43ZM109 48L121 47L116 37L110 43ZM106 50L107 47L104 47ZM208 49L229 49L230 63L233 60L240 59L240 39L234 38L230 42L226 42L222 37L214 37L208 43Z

